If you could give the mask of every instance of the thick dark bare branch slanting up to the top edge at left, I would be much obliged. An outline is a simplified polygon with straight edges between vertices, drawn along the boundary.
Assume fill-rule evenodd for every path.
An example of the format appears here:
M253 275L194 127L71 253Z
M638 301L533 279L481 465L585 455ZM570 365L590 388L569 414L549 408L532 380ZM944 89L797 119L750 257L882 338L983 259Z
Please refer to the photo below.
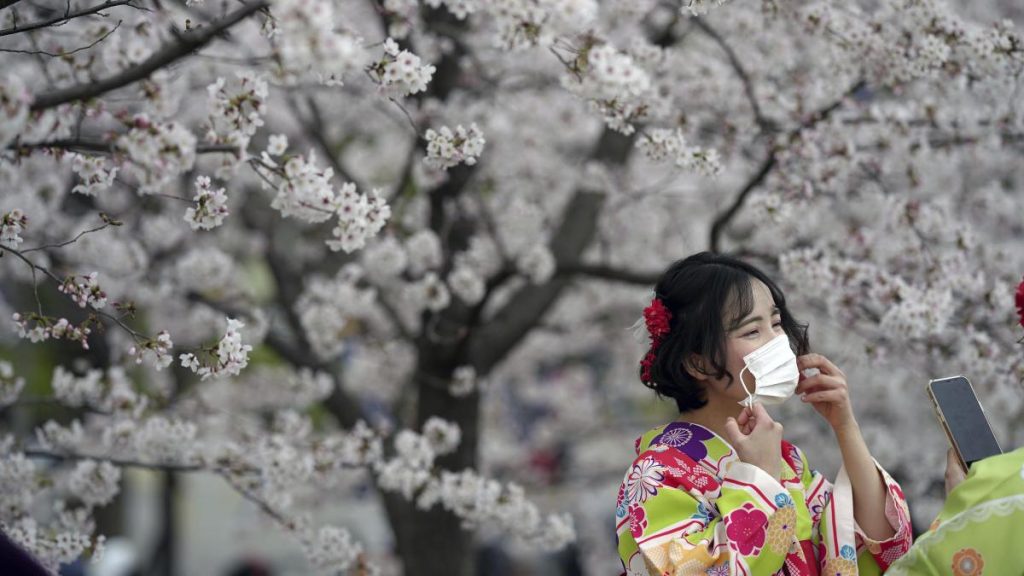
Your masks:
M129 68L121 73L109 76L101 80L76 84L67 88L60 88L51 92L39 94L33 98L31 110L39 112L67 102L94 98L110 92L111 90L115 90L122 86L147 78L151 74L161 68L173 64L206 46L225 30L246 19L255 12L265 9L267 6L268 3L266 0L254 2L228 14L216 23L179 33L176 35L177 42L164 46L138 66Z

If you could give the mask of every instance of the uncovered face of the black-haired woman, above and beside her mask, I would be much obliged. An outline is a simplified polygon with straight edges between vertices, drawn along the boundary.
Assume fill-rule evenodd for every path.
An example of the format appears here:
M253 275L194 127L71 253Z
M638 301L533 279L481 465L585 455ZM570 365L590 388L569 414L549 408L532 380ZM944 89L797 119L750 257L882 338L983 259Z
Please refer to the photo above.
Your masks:
M731 315L728 311L722 321L725 323L725 369L733 376L733 382L729 384L728 376L720 380L709 379L708 395L721 395L727 399L739 402L746 398L743 386L739 383L739 373L743 371L743 357L767 344L772 338L783 333L782 318L778 308L775 307L775 299L772 298L768 286L760 280L751 281L751 290L754 295L754 308L749 315L731 322ZM746 387L754 392L754 375L750 371L743 371L743 382Z

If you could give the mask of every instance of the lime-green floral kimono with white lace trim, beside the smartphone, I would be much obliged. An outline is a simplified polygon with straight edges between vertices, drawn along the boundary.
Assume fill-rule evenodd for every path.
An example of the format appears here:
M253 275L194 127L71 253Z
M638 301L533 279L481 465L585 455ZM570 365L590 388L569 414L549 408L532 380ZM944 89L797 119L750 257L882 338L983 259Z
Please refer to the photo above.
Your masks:
M895 575L1024 574L1024 448L975 462Z

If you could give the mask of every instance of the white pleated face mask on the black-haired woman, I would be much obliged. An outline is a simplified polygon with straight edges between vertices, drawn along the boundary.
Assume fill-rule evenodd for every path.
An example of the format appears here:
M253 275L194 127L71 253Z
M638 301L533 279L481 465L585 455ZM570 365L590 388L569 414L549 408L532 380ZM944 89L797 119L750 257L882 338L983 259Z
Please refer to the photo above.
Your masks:
M779 334L767 344L743 357L743 369L739 371L739 383L746 392L746 399L739 404L754 406L755 402L762 404L781 404L797 389L800 381L800 369L797 367L797 355L790 347L790 337ZM743 382L743 372L754 375L755 389L751 393Z

